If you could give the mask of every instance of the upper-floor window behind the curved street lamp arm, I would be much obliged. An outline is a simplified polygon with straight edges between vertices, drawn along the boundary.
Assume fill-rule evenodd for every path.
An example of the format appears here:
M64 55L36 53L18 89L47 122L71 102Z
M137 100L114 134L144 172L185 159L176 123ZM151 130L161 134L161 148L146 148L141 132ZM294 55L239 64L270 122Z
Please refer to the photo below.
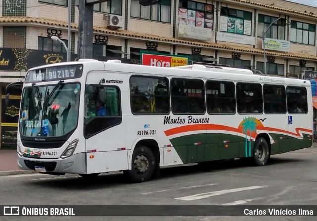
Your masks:
M264 14L258 15L258 37L262 37L262 32L265 32L266 38L272 39L285 39L285 24L286 19L281 18L277 22L274 22L278 17L267 16ZM272 24L272 22L274 22ZM272 25L271 25L272 24ZM271 25L270 28L268 28Z

